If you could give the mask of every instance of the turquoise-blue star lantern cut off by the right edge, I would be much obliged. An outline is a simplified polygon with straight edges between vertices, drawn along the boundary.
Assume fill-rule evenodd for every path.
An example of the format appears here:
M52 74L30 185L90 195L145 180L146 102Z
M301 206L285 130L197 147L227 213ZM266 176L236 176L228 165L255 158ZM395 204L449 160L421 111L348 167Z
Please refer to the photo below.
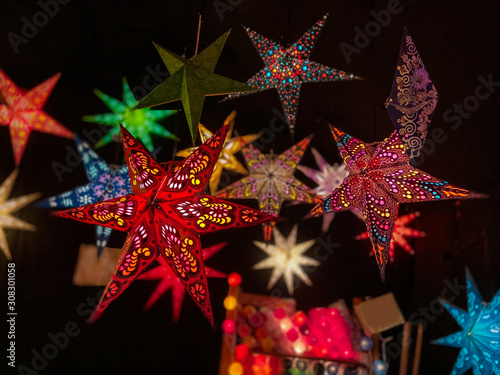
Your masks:
M466 278L468 311L440 299L462 331L434 340L432 344L460 348L452 375L464 374L471 368L475 375L500 375L500 290L490 303L484 302L468 269Z

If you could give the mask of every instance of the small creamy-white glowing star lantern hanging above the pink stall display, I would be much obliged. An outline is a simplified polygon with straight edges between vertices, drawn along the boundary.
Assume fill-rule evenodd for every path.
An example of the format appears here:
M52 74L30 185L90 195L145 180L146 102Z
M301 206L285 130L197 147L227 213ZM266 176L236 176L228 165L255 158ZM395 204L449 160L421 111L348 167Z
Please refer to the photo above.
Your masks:
M317 267L321 265L321 263L315 259L302 255L314 244L315 241L310 240L298 244L297 228L298 225L295 224L292 228L292 231L288 235L288 238L286 239L276 228L273 231L274 245L257 241L253 242L255 246L269 255L268 258L260 261L253 266L254 270L262 270L267 268L273 269L271 278L269 279L269 283L267 284L267 289L271 289L281 276L283 276L285 279L285 284L290 295L293 295L294 275L301 279L306 285L312 285L311 280L302 269L302 266Z

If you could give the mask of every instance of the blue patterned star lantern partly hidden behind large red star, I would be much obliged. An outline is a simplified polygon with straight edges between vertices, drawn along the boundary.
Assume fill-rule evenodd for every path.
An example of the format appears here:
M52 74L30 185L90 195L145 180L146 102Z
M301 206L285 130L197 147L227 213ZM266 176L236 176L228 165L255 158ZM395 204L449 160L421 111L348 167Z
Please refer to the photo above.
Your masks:
M75 143L89 182L55 197L47 198L39 202L38 207L79 207L132 193L127 165L107 165L80 138L75 137ZM100 225L96 228L96 245L99 256L108 243L111 231L111 228Z

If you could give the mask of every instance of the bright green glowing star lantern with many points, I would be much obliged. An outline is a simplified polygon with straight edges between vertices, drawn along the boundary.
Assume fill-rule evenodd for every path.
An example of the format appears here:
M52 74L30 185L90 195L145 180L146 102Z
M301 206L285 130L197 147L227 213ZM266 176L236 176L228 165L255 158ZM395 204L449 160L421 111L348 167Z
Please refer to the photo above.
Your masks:
M120 125L125 126L134 136L136 136L149 151L153 151L153 140L151 134L178 141L174 134L169 132L157 121L177 113L176 110L155 110L149 108L136 109L137 101L130 90L127 80L123 78L123 102L112 98L99 90L94 93L102 100L113 113L103 115L84 116L83 121L96 124L113 126L113 128L96 144L96 147L104 146L120 137Z

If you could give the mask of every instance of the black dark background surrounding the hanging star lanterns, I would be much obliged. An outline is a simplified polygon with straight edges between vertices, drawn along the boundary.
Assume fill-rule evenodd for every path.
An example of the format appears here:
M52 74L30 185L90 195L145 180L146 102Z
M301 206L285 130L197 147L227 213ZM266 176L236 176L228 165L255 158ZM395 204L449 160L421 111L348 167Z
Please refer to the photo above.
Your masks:
M224 0L221 0L224 2ZM225 3L225 2L224 2ZM233 2L237 4L238 2ZM227 4L227 3L225 3ZM44 110L63 125L83 137L84 129L97 126L82 122L87 114L106 113L107 108L92 93L99 88L121 97L121 78L140 93L147 67L166 69L151 44L155 41L170 50L192 56L196 44L198 12L203 14L200 49L212 43L227 29L232 33L223 50L216 72L245 81L255 74L262 62L240 24L284 44L293 43L321 16L329 19L314 48L313 61L366 78L365 81L306 84L302 88L295 141L311 133L312 144L330 162L340 162L327 123L334 124L368 142L382 140L392 131L383 107L394 76L403 27L406 25L439 92L440 99L432 127L444 130L447 140L436 145L421 168L432 175L464 188L492 196L490 200L467 200L457 204L443 201L431 204L408 204L401 214L420 210L413 224L427 232L424 239L412 241L414 257L396 250L396 261L387 269L387 281L379 279L375 260L368 256L369 242L354 241L364 224L350 213L339 214L329 231L332 241L341 246L320 267L310 272L313 287L300 285L295 298L300 309L326 306L343 298L351 304L354 296L395 293L405 317L422 316L421 308L436 311L435 298L446 288L445 280L464 284L468 265L479 289L489 301L500 286L498 172L497 156L500 94L498 88L480 101L476 111L457 129L443 119L443 114L474 95L479 77L500 81L498 41L498 3L495 1L401 1L403 10L393 15L386 27L349 63L339 45L353 44L354 28L364 29L373 19L372 10L380 11L386 1L269 1L243 0L221 20L210 1L79 1L60 5L47 25L19 46L15 53L7 35L21 35L23 17L32 20L40 11L35 1L2 1L0 6L0 67L20 87L32 88L61 71ZM218 103L208 98L202 122L215 131L232 109L238 110L236 129L250 134L268 128L275 113L281 111L275 91ZM166 108L181 108L172 103ZM277 122L279 124L279 122ZM183 114L163 124L182 138L175 145L187 147L189 133ZM270 134L270 133L269 133ZM83 137L85 139L85 137ZM286 128L270 136L264 150L280 153L294 143ZM158 156L168 161L174 152L172 141L156 138L162 145ZM44 197L86 183L81 166L63 175L59 181L53 163L66 163L70 140L34 132L19 168L11 196L36 191ZM14 169L7 127L0 128L3 181ZM98 153L108 162L121 162L120 146L111 144ZM308 151L303 163L315 167ZM303 175L297 175L308 181ZM231 181L238 176L230 176ZM229 180L226 180L227 182ZM313 185L311 185L313 186ZM254 202L249 205L256 207ZM321 219L302 221L311 206L284 207L286 218L278 224L285 234L296 222L299 241L320 235ZM154 282L138 281L113 302L94 325L87 325L87 298L96 299L98 288L72 285L72 274L81 243L92 243L90 225L51 217L47 211L32 206L18 217L35 224L35 233L7 230L16 264L17 311L16 361L31 367L32 350L42 351L50 342L48 334L64 330L75 322L81 333L70 339L58 356L48 361L43 374L215 374L221 344L220 328L212 330L195 304L186 298L179 323L172 323L170 293L148 313L142 311ZM125 235L113 233L110 245L121 247ZM259 227L219 232L202 238L205 246L229 241L227 248L207 264L224 272L237 271L243 276L243 288L269 293L269 271L253 271L252 265L264 258L253 240L262 240ZM308 253L312 255L312 250ZM6 262L2 257L0 285L5 290ZM218 327L224 317L222 300L227 292L224 280L211 280L211 300ZM286 293L280 280L276 293ZM2 301L6 299L2 298ZM2 302L5 303L5 302ZM455 303L465 307L462 292ZM420 312L419 312L420 311ZM79 313L80 312L80 313ZM3 319L3 318L2 318ZM422 374L450 372L458 350L429 345L431 339L455 332L458 326L448 313L431 313L426 319ZM5 332L5 331L4 331ZM2 338L2 343L6 341ZM7 368L2 359L2 370ZM395 373L398 359L391 361ZM7 368L8 369L8 368Z

